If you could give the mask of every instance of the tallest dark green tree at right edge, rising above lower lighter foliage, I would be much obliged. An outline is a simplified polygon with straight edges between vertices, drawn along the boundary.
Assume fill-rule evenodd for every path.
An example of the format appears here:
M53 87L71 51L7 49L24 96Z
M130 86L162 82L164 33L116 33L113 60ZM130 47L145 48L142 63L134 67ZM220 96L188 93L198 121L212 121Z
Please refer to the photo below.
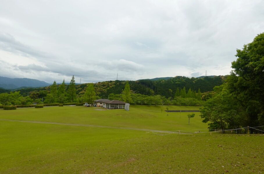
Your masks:
M264 124L264 33L237 50L237 60L228 79L229 90L237 97L247 114L249 126ZM253 130L251 131L251 133Z

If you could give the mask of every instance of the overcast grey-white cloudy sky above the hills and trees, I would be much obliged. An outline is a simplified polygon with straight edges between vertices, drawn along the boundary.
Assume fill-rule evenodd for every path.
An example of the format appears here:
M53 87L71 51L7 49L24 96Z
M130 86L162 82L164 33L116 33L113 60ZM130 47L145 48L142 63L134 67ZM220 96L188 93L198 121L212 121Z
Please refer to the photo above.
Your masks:
M0 0L0 76L79 83L227 75L264 1Z

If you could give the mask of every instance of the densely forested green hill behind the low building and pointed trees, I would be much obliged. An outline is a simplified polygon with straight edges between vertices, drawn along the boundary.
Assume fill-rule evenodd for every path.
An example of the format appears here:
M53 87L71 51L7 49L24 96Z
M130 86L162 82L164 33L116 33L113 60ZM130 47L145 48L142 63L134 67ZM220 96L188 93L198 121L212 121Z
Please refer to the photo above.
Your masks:
M227 76L215 76L204 77L204 78L189 78L176 76L167 80L137 80L137 81L129 81L130 89L133 90L134 93L140 93L143 95L161 95L165 97L174 97L176 93L176 89L182 89L183 87L188 90L191 88L194 91L198 91L200 88L201 92L212 91L215 86L219 86L223 84L224 79ZM124 89L126 81L104 81L98 82L94 85L95 91L97 95L101 98L107 98L111 93L120 94ZM84 93L84 87L87 84L77 85L77 93Z

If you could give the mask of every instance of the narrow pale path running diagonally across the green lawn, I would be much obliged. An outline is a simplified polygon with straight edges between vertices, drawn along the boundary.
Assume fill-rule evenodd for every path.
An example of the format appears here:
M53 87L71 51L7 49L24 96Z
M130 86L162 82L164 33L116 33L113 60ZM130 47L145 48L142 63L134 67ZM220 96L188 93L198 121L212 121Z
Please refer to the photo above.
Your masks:
M159 131L159 130L139 129L139 128L124 128L124 127L114 127L114 126L98 126L98 125L88 125L88 124L71 124L71 123L56 123L56 122L38 122L38 121L13 120L13 119L0 119L0 120L1 121L11 121L11 122L26 122L26 123L40 123L40 124L60 124L60 125L68 125L68 126L85 126L85 127L97 127L97 128L127 129L127 130L158 132L158 133L192 134L192 133L181 133L181 132L172 132L172 131Z

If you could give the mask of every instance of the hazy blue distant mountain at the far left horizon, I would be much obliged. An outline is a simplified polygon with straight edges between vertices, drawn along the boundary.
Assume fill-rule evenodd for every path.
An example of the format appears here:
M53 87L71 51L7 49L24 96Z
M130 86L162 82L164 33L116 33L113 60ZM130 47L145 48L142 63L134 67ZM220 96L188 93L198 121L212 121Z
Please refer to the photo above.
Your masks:
M20 87L43 87L50 84L45 81L28 78L8 78L0 76L0 87L4 89L16 89Z

